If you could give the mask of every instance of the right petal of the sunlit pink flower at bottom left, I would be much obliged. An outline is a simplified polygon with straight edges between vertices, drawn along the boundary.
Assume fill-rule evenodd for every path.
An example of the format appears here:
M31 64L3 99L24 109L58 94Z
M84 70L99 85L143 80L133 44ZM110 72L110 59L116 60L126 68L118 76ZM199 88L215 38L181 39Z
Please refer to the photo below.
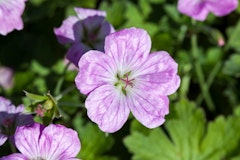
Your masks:
M50 124L42 132L39 147L42 158L65 160L77 156L81 144L76 131L62 125Z

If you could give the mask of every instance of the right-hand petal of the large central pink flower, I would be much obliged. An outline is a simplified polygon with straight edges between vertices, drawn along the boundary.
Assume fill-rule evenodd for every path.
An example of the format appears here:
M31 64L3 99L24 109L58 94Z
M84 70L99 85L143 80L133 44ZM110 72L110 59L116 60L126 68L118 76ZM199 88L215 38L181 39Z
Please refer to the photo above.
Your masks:
M170 95L180 86L177 70L177 63L167 52L161 51L150 54L149 59L132 76L137 77L138 89Z

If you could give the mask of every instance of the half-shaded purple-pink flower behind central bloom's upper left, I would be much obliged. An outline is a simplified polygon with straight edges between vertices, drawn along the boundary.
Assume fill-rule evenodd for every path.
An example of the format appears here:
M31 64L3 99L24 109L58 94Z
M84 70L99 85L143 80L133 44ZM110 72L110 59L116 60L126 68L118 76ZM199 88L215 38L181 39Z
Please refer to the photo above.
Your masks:
M54 28L59 43L71 44L67 59L78 66L80 57L91 49L103 51L106 35L114 31L105 21L106 13L94 9L75 8L77 16L70 16L59 28Z

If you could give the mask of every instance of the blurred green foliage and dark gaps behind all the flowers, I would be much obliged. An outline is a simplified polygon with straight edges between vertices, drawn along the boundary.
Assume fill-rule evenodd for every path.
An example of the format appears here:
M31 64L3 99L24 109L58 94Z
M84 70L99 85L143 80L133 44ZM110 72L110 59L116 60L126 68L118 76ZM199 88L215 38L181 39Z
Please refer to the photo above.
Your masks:
M84 95L76 88L65 95L58 102L63 117L54 123L79 132L79 158L240 160L239 7L224 17L210 14L193 22L178 12L176 0L28 0L24 29L0 35L0 68L8 67L13 75L9 87L0 84L1 96L28 105L23 90L58 96L74 86L77 70L65 70L69 46L59 44L53 32L75 15L74 7L106 11L116 30L147 30L152 51L169 52L181 77L181 87L170 96L166 123L156 129L130 116L120 131L105 134L87 118ZM0 70L0 79L4 76ZM9 153L8 144L0 147L0 156Z

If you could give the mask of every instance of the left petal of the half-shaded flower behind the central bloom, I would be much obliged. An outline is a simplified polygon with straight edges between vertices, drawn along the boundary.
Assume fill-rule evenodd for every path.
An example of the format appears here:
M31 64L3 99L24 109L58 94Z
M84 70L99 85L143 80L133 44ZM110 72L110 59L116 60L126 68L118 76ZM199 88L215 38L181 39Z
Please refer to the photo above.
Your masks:
M63 21L59 28L54 28L59 43L67 44L75 41L73 26L78 20L77 17L70 16Z

